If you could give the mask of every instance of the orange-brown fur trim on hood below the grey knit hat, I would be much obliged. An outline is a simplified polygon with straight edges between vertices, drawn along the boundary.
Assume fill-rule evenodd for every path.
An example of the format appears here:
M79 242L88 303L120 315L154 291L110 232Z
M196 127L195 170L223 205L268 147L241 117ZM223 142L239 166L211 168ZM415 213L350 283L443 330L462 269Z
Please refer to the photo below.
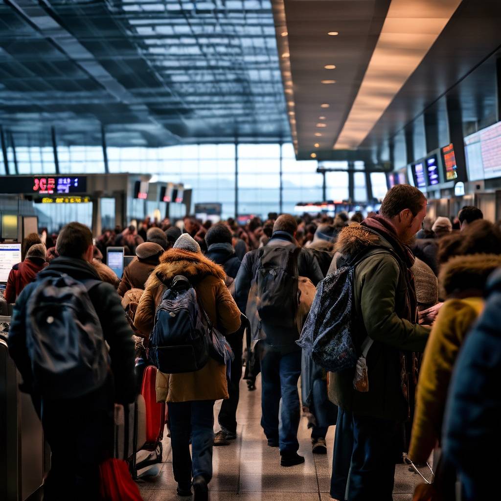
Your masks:
M192 253L187 250L171 248L160 256L160 264L153 270L146 282L146 289L165 284L176 275L183 275L188 279L202 279L206 275L213 275L224 281L226 274L221 266L216 265L201 253Z

